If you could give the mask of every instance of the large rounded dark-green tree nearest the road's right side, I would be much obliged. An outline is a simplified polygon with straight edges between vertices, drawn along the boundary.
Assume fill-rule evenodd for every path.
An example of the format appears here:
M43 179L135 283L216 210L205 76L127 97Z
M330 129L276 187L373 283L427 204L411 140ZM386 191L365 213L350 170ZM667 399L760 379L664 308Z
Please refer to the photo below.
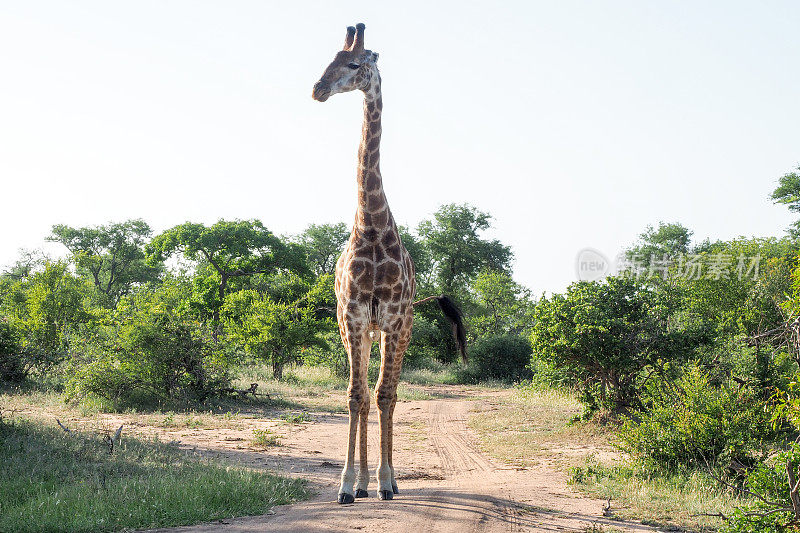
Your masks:
M637 405L642 370L685 360L704 340L691 322L675 319L674 289L659 289L629 277L573 283L537 304L534 353L577 372L589 409Z

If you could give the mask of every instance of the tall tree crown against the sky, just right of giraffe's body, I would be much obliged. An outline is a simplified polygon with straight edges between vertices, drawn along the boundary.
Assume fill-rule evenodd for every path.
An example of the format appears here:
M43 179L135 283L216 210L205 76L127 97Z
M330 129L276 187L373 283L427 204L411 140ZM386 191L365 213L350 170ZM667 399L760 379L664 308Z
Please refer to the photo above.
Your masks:
M420 223L419 234L444 293L463 290L481 270L509 270L511 249L497 239L481 237L491 221L491 215L473 206L447 204L436 211L433 220Z

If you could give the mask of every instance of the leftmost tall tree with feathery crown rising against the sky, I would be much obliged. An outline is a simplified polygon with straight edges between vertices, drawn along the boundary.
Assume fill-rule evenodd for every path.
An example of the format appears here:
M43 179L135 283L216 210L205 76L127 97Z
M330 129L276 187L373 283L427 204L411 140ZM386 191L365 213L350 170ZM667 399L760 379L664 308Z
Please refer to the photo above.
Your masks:
M132 287L158 275L160 265L145 262L143 246L150 234L150 226L137 219L85 228L59 224L48 240L72 253L78 273L91 279L104 303L113 308Z

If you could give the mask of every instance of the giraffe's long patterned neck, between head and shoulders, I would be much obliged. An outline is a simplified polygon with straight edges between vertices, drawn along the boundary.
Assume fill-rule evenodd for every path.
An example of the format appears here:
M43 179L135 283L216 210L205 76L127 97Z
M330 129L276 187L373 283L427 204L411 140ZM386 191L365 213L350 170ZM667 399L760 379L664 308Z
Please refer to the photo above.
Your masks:
M364 89L364 124L358 148L358 209L355 223L356 228L363 231L380 231L391 219L380 169L382 111L380 75L375 71L369 86Z

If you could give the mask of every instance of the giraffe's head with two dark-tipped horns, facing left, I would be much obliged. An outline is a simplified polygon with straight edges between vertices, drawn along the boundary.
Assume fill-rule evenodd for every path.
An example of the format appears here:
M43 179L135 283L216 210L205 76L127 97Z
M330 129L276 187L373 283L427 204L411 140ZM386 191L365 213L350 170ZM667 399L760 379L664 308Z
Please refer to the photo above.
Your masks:
M336 52L336 57L314 84L311 97L324 102L336 93L367 89L372 77L379 76L377 61L376 52L364 50L364 25L348 26L344 48Z

